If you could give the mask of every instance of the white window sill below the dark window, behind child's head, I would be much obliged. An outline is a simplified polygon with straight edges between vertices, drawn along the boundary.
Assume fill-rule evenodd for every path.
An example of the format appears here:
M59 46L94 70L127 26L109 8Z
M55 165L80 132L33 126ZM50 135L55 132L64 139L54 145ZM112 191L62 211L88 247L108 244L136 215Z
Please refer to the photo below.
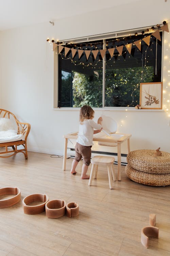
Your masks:
M92 108L94 111L140 111L140 112L148 112L148 111L164 111L164 109L135 109L132 108L125 108L125 107L105 107L105 108ZM53 110L60 110L60 111L80 111L80 108L53 108Z

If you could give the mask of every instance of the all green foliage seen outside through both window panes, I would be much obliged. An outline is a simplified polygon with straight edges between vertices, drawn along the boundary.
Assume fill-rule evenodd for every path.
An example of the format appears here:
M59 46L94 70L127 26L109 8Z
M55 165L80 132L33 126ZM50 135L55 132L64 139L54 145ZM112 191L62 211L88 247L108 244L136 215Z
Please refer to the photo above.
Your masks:
M153 81L153 67L144 69L142 80L141 71L141 67L107 69L105 106L139 104L140 82ZM60 106L81 107L85 104L91 107L102 107L102 70L94 71L93 75L75 71L65 76L62 75L62 104Z

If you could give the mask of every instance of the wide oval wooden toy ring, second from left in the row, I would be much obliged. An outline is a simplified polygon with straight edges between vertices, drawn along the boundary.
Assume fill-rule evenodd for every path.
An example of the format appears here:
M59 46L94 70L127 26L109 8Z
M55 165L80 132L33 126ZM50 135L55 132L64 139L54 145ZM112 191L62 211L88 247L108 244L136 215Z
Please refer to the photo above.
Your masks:
M43 203L38 205L27 205L31 202L41 201ZM38 214L45 211L45 205L49 201L49 197L46 194L33 194L24 197L22 200L23 211L26 214Z

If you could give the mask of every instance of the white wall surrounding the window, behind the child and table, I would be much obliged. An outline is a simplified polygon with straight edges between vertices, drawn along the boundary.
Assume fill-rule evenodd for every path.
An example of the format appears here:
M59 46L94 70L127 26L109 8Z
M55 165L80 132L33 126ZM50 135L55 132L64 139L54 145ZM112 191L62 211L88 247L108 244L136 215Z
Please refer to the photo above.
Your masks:
M0 33L0 106L15 113L19 120L31 124L30 151L62 154L63 134L77 131L79 127L79 110L53 110L53 52L46 39L64 40L152 26L168 21L169 10L169 1L138 1L116 9L56 20L54 26L43 23ZM163 64L166 67L163 86L166 92L163 98L164 107L170 109L167 102L170 100L170 34L167 32L165 39L164 56L167 58ZM104 111L96 111L95 119L102 113ZM132 134L131 150L160 147L162 151L170 152L167 113L143 110L105 112L117 121L118 132ZM125 146L123 153L127 153Z

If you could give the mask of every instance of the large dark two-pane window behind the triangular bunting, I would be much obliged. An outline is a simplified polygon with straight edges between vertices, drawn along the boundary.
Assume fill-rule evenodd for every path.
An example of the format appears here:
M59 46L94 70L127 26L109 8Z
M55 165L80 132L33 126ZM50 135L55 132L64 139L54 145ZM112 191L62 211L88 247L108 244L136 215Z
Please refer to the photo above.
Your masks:
M139 104L140 82L161 81L162 40L151 36L149 46L142 40L149 34L110 37L68 43L58 54L58 107L134 107ZM162 32L160 32L162 39ZM134 44L141 39L141 51ZM125 45L132 43L131 53ZM120 55L116 47L123 45ZM113 57L109 49L114 49ZM77 49L72 57L71 49ZM78 49L90 51L79 56ZM102 58L100 50L107 49ZM99 50L95 59L92 51ZM80 58L79 58L80 57Z

